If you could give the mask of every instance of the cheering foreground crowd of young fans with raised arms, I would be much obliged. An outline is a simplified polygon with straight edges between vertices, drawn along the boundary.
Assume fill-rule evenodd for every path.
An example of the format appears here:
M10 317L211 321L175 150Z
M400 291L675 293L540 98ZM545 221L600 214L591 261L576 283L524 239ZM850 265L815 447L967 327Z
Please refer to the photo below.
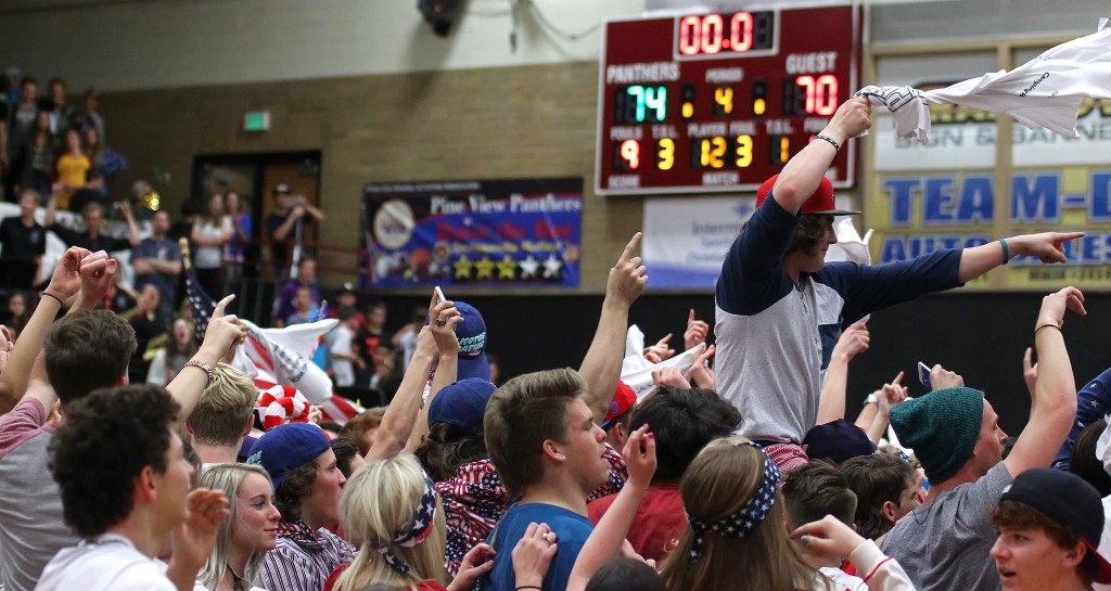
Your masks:
M761 187L718 281L715 345L692 312L691 354L638 354L653 383L635 390L622 367L629 311L649 281L639 233L610 270L579 368L494 385L482 314L433 296L400 381L383 382L388 405L344 425L261 415L257 381L233 367L251 338L227 313L234 296L164 387L129 384L137 329L102 303L118 263L70 247L18 341L0 329L2 588L1111 583L1111 371L1077 391L1063 325L1087 313L1079 290L1045 296L1021 320L1033 340L1031 412L1015 437L982 391L940 365L925 395L908 398L895 379L845 420L868 314L1014 257L1064 262L1064 244L1082 236L825 263L834 216L857 212L833 206L824 172L870 126L865 100L845 102ZM313 287L293 286L293 301L311 300ZM351 317L341 317L344 338ZM891 441L881 439L889 423Z

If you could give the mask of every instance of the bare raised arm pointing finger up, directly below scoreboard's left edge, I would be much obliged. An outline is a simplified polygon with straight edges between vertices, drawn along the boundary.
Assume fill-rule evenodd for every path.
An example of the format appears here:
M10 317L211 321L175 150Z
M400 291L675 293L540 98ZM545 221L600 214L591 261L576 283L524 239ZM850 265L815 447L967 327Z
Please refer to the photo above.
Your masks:
M594 413L594 422L599 424L605 419L621 377L624 339L629 330L629 308L643 293L644 284L648 283L648 268L641 264L640 257L632 254L642 236L640 232L633 234L617 264L610 269L598 330L594 331L594 340L579 368L579 373L589 387L587 402Z

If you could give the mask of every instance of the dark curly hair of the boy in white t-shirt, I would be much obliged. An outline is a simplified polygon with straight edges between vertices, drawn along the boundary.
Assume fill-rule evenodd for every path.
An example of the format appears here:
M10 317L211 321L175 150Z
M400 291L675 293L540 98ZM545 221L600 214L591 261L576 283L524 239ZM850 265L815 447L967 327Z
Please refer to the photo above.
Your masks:
M136 479L164 473L170 427L181 408L153 385L94 390L73 401L50 442L62 517L82 538L100 535L133 508Z

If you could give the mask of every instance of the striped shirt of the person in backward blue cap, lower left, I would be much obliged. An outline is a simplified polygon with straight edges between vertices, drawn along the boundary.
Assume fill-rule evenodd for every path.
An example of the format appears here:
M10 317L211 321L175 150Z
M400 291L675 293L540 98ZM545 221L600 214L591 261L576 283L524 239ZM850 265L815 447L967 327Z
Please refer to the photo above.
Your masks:
M339 535L304 522L278 524L278 545L267 552L259 577L270 591L321 591L336 567L354 560L358 551Z

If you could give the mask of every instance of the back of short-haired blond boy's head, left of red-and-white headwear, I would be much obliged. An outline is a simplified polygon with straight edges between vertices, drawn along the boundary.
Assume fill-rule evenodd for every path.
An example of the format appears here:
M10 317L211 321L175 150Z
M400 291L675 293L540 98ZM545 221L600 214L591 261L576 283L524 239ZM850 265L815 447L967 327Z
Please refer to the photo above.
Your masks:
M238 461L243 437L254 422L257 400L258 390L246 373L227 363L212 368L212 380L186 419L186 431L202 470Z

